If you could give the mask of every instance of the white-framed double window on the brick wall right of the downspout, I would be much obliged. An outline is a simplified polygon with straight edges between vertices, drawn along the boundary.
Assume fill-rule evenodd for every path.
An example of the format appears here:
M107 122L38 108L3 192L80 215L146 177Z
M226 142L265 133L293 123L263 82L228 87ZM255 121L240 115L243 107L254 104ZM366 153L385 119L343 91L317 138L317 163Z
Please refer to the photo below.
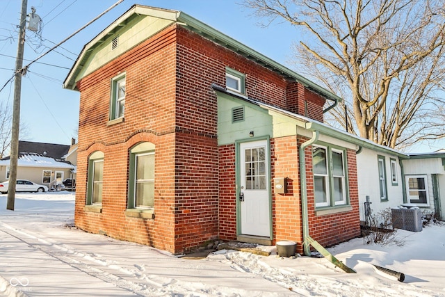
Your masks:
M345 152L332 147L312 147L316 207L346 204Z

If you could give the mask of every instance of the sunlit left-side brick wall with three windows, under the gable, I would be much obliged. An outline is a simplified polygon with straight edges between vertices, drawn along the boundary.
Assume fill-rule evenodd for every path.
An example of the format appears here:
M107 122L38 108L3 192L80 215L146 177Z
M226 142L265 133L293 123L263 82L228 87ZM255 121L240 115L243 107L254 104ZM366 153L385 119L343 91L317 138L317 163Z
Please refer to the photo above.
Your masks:
M81 102L75 223L81 229L176 251L172 224L175 220L175 57L175 31L170 29L77 83ZM138 63L133 63L134 60ZM122 72L126 72L127 86L124 122L108 126L111 79ZM154 220L124 214L129 150L142 141L156 145ZM88 156L97 150L104 152L102 214L84 211Z

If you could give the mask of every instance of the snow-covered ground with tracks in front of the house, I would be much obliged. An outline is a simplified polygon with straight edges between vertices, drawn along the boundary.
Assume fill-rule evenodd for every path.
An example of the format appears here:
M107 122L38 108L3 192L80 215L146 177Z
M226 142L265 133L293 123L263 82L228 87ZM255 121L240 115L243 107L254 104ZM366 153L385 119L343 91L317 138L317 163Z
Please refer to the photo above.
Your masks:
M74 193L0 195L0 296L445 296L445 226L398 230L403 246L330 248L357 273L324 258L220 250L184 259L67 227ZM372 264L405 274L398 282Z

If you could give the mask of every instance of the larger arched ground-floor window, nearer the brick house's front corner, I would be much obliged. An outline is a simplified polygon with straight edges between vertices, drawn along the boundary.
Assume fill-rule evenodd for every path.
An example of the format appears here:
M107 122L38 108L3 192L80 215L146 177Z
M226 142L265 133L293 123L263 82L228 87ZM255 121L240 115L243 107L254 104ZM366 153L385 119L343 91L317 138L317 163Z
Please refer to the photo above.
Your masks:
M154 144L140 143L130 150L128 208L154 208Z

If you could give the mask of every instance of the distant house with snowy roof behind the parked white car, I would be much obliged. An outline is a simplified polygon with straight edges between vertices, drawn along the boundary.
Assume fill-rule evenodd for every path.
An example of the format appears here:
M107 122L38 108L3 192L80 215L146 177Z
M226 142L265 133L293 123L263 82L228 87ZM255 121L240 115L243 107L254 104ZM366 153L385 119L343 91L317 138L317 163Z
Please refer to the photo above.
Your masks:
M29 179L48 188L62 184L63 179L72 176L75 166L64 161L70 145L19 141L17 178ZM0 160L0 181L9 179L10 157Z

